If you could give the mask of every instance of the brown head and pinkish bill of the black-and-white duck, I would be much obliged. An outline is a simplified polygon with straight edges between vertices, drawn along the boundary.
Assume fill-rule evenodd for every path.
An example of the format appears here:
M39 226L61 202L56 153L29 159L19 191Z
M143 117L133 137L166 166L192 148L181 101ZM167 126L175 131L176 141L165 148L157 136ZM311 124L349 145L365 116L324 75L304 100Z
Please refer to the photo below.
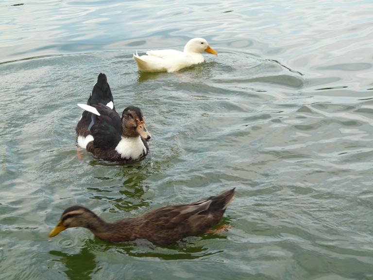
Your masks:
M136 106L128 106L122 113L122 135L123 137L141 136L149 141L152 135L146 129L144 116L141 109Z

